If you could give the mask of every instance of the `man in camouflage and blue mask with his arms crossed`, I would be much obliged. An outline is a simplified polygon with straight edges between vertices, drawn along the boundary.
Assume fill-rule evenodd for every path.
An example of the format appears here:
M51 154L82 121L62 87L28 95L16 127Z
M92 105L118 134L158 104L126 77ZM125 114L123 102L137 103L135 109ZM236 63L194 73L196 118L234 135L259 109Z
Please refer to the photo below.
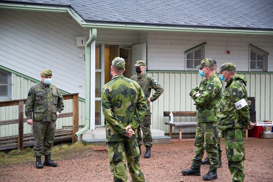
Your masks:
M200 76L205 79L190 91L190 96L194 100L197 110L197 130L195 136L195 157L192 167L182 170L183 175L200 176L200 166L206 150L209 160L209 172L203 176L204 180L217 179L218 166L218 130L216 107L222 94L222 84L219 78L213 73L214 63L212 59L204 59L200 62ZM204 73L203 73L204 72Z

